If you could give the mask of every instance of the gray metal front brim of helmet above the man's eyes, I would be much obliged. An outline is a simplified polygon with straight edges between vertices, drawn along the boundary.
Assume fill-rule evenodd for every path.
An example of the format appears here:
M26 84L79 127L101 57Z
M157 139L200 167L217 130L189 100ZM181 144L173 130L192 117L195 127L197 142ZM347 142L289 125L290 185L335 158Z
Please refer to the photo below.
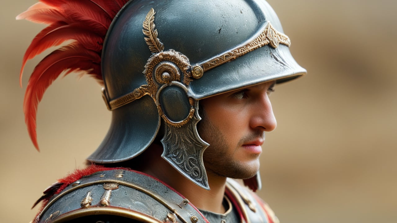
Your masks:
M294 60L287 46L263 46L204 72L202 78L190 83L188 94L200 100L268 81L284 83L304 74L306 69Z

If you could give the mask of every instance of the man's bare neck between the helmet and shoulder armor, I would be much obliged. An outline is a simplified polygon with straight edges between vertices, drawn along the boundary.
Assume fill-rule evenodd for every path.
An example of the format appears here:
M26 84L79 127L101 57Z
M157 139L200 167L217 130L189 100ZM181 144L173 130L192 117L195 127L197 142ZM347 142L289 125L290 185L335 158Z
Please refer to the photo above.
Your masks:
M152 175L168 184L198 209L212 211L215 213L224 213L222 201L225 194L226 178L220 177L210 171L207 171L208 184L211 190L205 190L189 179L181 175L167 161L161 158L162 147L152 144L147 152L142 154L147 165L139 168L139 171Z

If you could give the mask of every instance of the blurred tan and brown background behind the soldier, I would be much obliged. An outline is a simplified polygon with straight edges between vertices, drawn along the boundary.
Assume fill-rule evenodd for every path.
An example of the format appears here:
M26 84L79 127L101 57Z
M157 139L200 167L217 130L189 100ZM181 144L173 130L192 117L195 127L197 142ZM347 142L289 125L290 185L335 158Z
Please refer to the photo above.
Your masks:
M15 21L36 0L0 3L2 221L29 222L41 192L100 144L110 124L100 86L58 79L26 131L18 74L42 25ZM262 155L260 195L282 223L397 222L397 2L269 0L308 75L276 87L278 128Z

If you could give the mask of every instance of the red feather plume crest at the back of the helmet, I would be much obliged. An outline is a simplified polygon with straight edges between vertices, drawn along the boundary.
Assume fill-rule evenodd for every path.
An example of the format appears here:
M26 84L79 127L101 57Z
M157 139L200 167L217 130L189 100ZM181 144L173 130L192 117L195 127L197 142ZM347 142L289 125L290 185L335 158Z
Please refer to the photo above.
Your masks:
M102 44L110 23L128 0L40 0L16 19L48 24L33 39L22 60L19 83L27 60L52 46L72 40L48 56L33 70L23 101L25 123L39 150L36 134L37 106L46 89L59 77L71 72L92 75L102 81Z

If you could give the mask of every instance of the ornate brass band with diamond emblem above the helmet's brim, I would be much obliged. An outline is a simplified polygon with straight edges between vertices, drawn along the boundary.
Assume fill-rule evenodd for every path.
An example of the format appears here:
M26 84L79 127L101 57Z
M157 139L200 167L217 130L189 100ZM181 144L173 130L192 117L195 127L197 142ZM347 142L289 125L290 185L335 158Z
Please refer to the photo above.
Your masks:
M270 44L273 48L277 48L279 44L284 44L286 46L291 46L291 40L287 35L278 32L270 22L266 26L265 30L254 40L249 42L248 44L238 47L234 50L231 50L221 56L217 56L215 58L210 59L208 62L204 62L200 64L205 71L217 67L221 64L234 60L240 56L247 54L253 50L256 50L262 46Z

